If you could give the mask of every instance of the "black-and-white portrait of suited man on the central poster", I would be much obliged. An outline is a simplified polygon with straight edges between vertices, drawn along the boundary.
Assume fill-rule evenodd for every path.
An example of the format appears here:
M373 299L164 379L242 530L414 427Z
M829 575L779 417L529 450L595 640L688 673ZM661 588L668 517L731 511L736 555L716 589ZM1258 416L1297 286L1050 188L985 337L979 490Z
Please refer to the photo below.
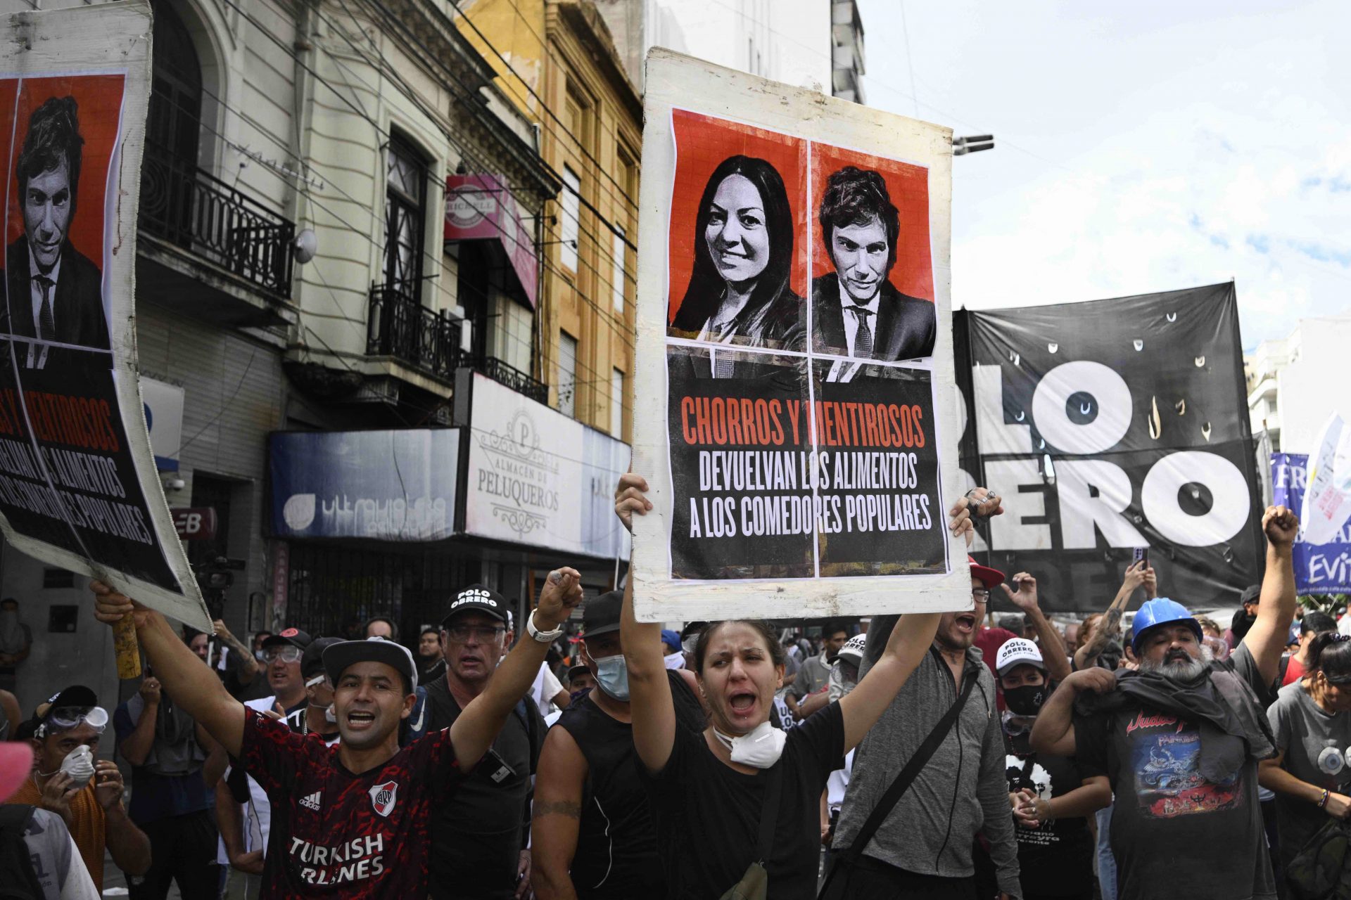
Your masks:
M934 355L934 304L892 285L900 213L875 171L832 173L819 213L835 271L812 282L812 347L896 362Z

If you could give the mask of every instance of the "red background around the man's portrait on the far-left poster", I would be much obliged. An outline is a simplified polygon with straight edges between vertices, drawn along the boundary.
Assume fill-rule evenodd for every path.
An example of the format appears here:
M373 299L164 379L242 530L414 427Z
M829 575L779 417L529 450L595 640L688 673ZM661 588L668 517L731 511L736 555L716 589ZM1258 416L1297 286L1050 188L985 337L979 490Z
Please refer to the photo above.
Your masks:
M118 142L118 121L122 116L123 76L61 76L55 78L24 78L15 109L16 78L0 80L0 121L14 123L12 138L0 140L9 144L9 165L5 169L4 192L9 197L5 215L5 246L23 233L23 210L19 205L19 185L15 165L28 132L28 117L47 97L72 96L78 104L80 135L85 143L80 163L80 193L68 237L74 248L103 270L104 198L108 186L108 163ZM14 116L18 115L15 123ZM3 144L0 144L3 146ZM134 190L135 186L128 186ZM0 258L3 262L3 258Z

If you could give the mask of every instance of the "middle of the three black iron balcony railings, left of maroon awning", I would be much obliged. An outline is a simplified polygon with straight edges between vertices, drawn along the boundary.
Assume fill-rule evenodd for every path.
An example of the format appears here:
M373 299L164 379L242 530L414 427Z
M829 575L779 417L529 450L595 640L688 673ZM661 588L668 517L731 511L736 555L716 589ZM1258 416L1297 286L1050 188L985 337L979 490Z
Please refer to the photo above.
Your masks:
M413 368L450 379L461 364L459 335L458 318L423 306L408 285L370 289L369 356L393 356Z

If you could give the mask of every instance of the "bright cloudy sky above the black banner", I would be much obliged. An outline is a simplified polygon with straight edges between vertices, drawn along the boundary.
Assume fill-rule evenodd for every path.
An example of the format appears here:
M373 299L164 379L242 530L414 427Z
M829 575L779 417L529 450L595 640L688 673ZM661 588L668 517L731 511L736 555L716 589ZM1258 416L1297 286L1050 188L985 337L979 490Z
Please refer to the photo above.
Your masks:
M1248 348L1351 313L1351 4L858 5L869 105L996 136L954 161L954 308L1233 278Z

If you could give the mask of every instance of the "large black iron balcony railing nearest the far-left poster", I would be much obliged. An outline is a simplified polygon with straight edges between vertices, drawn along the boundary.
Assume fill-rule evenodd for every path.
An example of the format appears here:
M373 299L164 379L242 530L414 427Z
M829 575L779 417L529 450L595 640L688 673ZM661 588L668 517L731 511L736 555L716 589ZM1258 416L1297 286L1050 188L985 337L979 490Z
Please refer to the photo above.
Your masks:
M295 223L200 169L165 159L154 147L146 148L142 163L139 231L157 239L151 242L157 256L178 251L209 263L218 286L235 282L290 300ZM157 262L190 277L174 262Z

